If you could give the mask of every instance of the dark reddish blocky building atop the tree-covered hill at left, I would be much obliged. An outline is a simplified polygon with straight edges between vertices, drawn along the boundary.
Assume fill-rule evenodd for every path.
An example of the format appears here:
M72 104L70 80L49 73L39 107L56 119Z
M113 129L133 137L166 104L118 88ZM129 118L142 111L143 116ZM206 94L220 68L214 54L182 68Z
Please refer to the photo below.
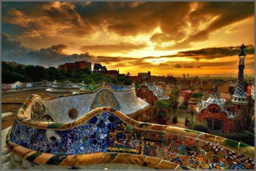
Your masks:
M88 68L89 71L92 72L92 63L87 61L75 61L75 63L65 63L63 65L59 65L59 70L69 71L70 73L74 73L76 69L85 69Z

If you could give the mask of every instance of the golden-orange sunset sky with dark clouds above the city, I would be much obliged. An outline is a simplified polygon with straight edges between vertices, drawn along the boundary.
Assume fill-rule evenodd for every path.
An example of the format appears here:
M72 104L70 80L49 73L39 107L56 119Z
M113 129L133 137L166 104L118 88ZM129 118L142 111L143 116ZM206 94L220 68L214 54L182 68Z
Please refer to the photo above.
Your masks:
M3 2L2 60L120 73L254 75L254 2Z

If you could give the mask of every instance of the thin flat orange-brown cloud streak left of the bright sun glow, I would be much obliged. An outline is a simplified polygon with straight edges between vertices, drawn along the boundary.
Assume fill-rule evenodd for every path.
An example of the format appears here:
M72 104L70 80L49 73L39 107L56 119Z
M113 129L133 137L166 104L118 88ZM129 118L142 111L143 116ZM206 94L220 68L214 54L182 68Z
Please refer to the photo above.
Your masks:
M110 45L89 45L89 46L82 46L80 50L82 52L97 52L97 53L116 53L116 52L129 52L134 50L140 50L146 48L147 45L140 44L130 44L119 42L118 44L110 44Z

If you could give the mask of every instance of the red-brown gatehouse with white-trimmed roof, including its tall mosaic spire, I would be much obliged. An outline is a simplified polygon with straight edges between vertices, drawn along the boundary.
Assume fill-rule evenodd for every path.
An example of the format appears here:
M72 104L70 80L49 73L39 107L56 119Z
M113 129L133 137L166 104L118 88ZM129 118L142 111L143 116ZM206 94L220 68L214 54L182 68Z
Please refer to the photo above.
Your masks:
M244 91L244 58L243 52L244 45L240 49L242 52L239 54L239 73L236 84L236 91L231 96L231 100L221 98L218 87L215 86L210 97L197 105L197 120L202 122L206 121L210 131L223 132L225 134L233 132L232 122L233 118L238 114L243 114L243 106L247 105L247 97L251 93L251 87L247 93ZM229 84L232 82L229 82Z

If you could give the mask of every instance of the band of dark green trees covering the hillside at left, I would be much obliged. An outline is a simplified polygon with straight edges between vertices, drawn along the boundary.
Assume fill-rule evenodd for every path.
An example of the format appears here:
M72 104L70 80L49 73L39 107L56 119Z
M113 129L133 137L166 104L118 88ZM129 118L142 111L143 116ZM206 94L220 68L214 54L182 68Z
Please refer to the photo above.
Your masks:
M100 63L98 66L101 66ZM101 66L102 67L102 66ZM104 66L103 66L104 69ZM21 82L37 82L41 80L63 82L69 80L71 82L82 82L84 84L98 84L100 82L109 82L110 84L130 86L132 80L125 76L114 77L104 73L91 73L88 69L76 69L74 74L58 70L54 67L44 68L41 66L21 66L16 67L2 61L2 83Z

